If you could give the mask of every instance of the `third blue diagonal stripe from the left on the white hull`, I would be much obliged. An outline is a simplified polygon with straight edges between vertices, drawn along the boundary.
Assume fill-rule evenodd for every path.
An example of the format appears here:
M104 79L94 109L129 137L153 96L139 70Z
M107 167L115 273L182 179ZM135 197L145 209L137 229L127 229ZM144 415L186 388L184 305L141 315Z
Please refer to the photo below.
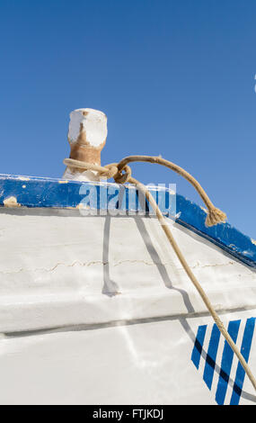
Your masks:
M241 320L230 321L228 325L228 333L230 337L236 342L238 330L240 327ZM225 394L227 390L227 383L229 381L230 370L233 362L234 352L228 343L225 341L222 361L221 361L221 370L219 374L217 389L216 389L216 403L218 405L223 405L225 401Z

